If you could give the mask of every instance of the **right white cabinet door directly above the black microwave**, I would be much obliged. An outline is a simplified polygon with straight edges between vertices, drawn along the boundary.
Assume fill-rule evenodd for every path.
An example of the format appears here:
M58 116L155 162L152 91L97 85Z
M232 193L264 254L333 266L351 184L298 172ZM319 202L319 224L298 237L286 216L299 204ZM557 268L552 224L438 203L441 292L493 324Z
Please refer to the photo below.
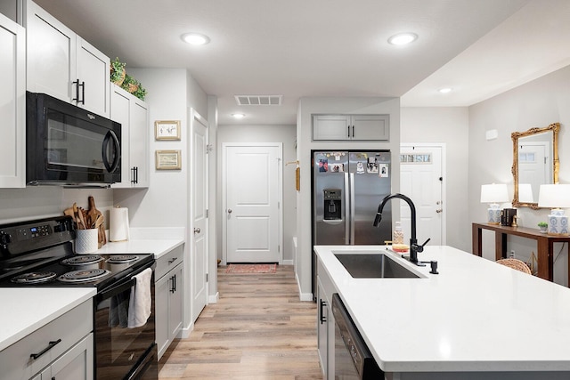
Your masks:
M109 117L110 60L80 36L77 36L78 106ZM75 97L75 96L74 96Z

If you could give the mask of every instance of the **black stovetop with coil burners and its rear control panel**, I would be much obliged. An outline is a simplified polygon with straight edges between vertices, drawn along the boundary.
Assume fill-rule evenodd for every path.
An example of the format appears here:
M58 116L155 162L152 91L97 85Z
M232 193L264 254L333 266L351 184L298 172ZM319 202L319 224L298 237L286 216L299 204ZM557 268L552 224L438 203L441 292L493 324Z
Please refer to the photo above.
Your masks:
M0 287L111 286L154 262L152 254L73 253L68 216L0 225Z

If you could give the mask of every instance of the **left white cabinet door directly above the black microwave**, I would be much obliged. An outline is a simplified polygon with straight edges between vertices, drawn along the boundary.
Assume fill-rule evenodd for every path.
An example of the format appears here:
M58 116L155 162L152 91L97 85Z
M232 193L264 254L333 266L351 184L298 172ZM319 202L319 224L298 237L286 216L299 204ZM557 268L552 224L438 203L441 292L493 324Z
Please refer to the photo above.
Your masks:
M76 34L34 2L26 2L28 91L72 102Z

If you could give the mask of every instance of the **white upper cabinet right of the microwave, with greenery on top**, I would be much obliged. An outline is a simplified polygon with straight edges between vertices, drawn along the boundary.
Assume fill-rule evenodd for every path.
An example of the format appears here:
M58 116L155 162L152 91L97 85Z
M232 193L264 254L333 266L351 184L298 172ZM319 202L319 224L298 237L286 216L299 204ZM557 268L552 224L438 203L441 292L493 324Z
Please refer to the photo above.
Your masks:
M149 187L151 129L147 104L111 85L110 118L121 124L121 182L112 187Z

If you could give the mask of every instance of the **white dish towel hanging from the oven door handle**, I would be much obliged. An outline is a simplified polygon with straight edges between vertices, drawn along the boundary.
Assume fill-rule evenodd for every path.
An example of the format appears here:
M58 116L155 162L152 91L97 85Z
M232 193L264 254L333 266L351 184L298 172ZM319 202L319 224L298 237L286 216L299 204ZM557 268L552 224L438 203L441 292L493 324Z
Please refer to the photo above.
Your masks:
M136 283L131 287L131 298L128 302L128 328L144 326L151 316L151 278L151 268L133 276Z

